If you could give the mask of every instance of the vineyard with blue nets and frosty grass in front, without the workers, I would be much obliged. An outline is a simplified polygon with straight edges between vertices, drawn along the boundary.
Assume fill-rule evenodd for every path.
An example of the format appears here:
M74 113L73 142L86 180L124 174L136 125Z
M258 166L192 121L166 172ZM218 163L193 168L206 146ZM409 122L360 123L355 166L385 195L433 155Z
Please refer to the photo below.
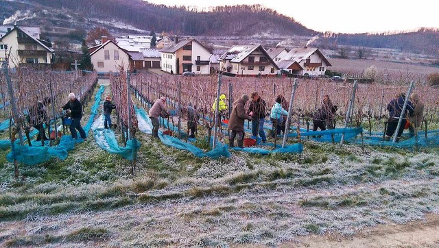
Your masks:
M386 106L412 83L425 103L422 142L384 142ZM265 112L277 95L292 99L285 144L276 137L229 149L227 123L214 125L218 90L229 110L254 91ZM439 213L439 92L418 75L357 84L123 69L98 79L87 71L23 69L3 70L0 91L1 246L306 246L302 237L310 234L349 238ZM86 141L73 140L62 125L59 108L70 92L84 108ZM116 106L113 129L104 129L106 95ZM335 129L312 132L324 95L338 106ZM162 96L171 115L161 119L155 140L147 112ZM26 116L45 97L47 129L62 135L37 142ZM195 138L187 136L188 106L202 117ZM266 122L265 132L272 132ZM250 123L244 125L251 136ZM368 143L372 136L380 140Z

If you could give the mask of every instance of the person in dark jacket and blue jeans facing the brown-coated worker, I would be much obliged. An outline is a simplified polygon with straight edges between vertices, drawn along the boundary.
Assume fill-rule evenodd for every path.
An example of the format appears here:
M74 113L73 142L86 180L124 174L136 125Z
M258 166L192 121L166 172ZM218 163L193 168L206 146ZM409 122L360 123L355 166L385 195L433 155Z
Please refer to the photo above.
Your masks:
M263 131L263 124L265 122L265 101L259 97L258 92L252 92L250 98L252 102L250 106L248 106L248 112L252 113L252 136L257 138L259 134L261 141L266 142L267 137Z

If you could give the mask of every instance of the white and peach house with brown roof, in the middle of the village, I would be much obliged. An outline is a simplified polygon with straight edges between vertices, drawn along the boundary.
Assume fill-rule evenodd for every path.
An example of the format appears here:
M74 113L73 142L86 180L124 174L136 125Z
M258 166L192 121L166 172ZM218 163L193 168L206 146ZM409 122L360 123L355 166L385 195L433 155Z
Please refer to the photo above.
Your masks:
M161 53L161 69L171 74L182 74L193 71L197 74L209 74L209 58L211 51L193 38L179 40L159 50Z

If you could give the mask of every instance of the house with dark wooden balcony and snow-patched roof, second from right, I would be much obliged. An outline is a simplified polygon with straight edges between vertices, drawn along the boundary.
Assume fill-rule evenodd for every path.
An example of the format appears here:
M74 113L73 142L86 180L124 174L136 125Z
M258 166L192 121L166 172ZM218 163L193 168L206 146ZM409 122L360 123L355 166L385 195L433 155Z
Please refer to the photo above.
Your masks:
M225 75L274 76L278 66L261 45L236 45L219 57L219 68Z

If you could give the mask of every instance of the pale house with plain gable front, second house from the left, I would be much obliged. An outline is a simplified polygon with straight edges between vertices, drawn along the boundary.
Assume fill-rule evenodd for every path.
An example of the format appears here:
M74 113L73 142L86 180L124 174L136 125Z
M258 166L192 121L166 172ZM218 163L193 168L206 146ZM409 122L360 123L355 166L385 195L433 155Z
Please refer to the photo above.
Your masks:
M97 73L117 73L123 67L123 70L130 69L130 55L124 49L121 49L112 40L102 38L102 44L88 48L90 52L91 63Z

